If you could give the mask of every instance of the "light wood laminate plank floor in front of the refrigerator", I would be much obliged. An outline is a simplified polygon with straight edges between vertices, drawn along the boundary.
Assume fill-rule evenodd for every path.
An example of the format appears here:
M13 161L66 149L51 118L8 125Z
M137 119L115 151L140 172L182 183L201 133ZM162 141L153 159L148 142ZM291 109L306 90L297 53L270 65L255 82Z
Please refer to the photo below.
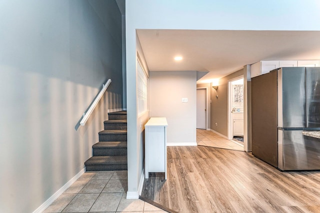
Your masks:
M167 180L150 173L141 197L178 213L319 213L320 172L280 172L246 152L167 147Z

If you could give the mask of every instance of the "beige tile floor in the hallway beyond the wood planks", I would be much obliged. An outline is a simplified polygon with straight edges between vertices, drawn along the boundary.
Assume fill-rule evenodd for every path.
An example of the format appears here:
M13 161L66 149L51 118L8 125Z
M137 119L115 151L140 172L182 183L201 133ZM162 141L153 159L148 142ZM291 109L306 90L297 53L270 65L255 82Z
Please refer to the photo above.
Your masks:
M243 151L243 146L234 141L227 140L211 131L196 129L196 143L198 146L215 147Z

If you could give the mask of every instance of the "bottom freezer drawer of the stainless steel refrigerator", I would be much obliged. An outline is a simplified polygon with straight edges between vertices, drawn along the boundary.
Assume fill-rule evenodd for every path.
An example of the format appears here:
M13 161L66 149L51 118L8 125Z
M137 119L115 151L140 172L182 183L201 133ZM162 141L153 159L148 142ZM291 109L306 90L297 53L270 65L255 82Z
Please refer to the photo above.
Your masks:
M278 130L280 170L320 170L320 139L302 135L302 130Z

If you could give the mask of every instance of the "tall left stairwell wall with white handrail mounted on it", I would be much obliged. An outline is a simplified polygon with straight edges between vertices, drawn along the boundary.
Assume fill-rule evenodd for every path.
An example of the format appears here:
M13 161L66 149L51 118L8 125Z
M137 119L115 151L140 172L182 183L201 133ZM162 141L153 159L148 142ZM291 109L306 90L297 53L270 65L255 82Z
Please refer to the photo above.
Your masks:
M83 170L107 110L122 107L118 22L114 1L0 1L1 213L33 212Z

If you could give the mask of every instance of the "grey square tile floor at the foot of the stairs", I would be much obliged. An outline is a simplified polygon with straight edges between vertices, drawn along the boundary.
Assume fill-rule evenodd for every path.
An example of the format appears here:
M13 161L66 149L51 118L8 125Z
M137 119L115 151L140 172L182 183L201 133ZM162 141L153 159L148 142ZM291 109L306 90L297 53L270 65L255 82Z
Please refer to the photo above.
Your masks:
M141 200L127 200L127 171L86 172L43 213L163 213Z

